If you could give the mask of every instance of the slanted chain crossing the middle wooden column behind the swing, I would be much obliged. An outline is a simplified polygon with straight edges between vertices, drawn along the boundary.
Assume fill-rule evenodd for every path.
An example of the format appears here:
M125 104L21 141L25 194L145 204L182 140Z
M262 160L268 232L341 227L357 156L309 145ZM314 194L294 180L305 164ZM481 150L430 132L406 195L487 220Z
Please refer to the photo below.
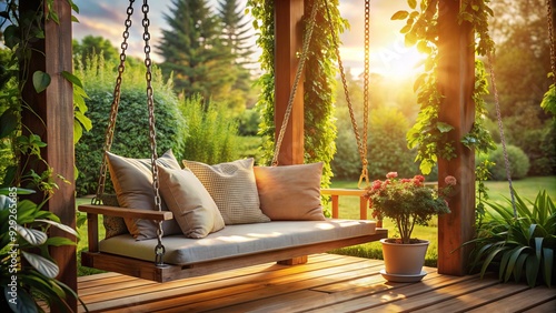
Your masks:
M301 55L300 55L299 64L297 67L296 77L294 79L294 85L291 89L291 93L289 94L288 107L286 108L286 112L284 114L284 120L281 123L280 133L278 134L278 139L276 140L275 152L274 152L274 156L272 156L272 166L278 165L278 153L280 152L281 142L284 140L284 135L285 135L286 129L288 127L289 117L291 115L291 109L294 108L294 99L296 98L297 88L299 85L299 80L301 79L301 73L302 73L302 70L305 67L305 61L307 60L307 54L309 54L309 52L308 52L309 51L309 43L310 43L310 40L312 38L312 29L315 28L317 8L318 8L318 1L315 1L312 3L312 10L311 10L311 14L309 18L307 33L305 34L305 38L304 38L304 43L302 43L302 48L301 48Z

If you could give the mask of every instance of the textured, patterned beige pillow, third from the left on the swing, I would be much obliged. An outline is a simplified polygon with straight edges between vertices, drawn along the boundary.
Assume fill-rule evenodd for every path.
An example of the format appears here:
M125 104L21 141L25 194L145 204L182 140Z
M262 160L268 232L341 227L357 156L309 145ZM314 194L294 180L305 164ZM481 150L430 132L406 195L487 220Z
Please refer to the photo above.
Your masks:
M216 165L183 161L212 196L227 225L270 221L259 208L252 163L252 158Z

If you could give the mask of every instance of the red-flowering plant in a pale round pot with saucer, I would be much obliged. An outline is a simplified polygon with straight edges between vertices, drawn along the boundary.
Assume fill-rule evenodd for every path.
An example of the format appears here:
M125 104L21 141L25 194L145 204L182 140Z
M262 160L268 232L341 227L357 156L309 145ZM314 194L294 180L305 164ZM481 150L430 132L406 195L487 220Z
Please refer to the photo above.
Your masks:
M454 176L445 179L446 188L435 189L425 184L423 175L398 179L397 172L389 172L386 180L376 180L367 188L365 196L369 201L373 216L378 220L391 219L396 223L399 239L384 239L383 276L389 281L413 282L425 276L421 271L429 242L411 239L416 224L427 225L434 215L449 213L446 196L456 185Z

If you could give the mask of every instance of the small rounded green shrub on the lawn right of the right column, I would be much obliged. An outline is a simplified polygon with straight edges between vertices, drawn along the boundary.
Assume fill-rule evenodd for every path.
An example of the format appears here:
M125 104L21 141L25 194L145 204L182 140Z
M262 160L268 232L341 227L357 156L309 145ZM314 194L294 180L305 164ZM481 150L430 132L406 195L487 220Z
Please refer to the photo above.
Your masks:
M525 154L520 148L512 144L506 145L506 151L508 154L512 179L518 180L525 178L529 171L529 158L527 158L527 154ZM489 162L494 163L494 165L489 169L490 179L495 181L507 180L502 144L497 144L496 150L490 152L487 156L481 155L480 158L486 158Z

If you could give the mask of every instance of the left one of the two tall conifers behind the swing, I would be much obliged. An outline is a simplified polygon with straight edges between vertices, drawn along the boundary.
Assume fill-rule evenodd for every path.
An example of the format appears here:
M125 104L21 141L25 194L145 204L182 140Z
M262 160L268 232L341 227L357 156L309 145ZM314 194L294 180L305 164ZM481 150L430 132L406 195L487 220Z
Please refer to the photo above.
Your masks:
M221 42L220 20L206 0L172 0L171 4L170 14L163 16L169 29L162 30L157 47L165 59L161 69L173 73L176 91L186 97L229 99L235 71L230 71L230 49Z

